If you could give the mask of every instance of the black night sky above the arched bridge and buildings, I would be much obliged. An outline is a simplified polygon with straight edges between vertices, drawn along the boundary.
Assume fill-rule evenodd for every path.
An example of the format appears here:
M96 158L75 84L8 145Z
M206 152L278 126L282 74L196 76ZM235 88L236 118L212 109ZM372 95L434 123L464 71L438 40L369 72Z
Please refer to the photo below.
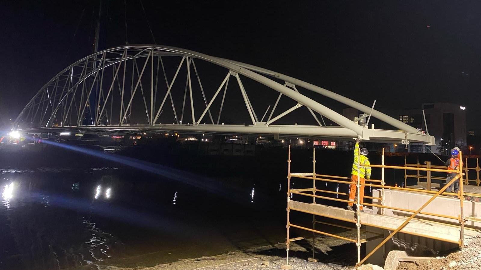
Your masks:
M377 108L467 107L480 132L479 1L103 0L101 47L175 46L251 63ZM107 2L105 4L105 2ZM92 52L98 1L8 1L0 8L0 118ZM75 36L74 36L75 33ZM318 101L341 112L337 103ZM259 114L259 112L258 112Z

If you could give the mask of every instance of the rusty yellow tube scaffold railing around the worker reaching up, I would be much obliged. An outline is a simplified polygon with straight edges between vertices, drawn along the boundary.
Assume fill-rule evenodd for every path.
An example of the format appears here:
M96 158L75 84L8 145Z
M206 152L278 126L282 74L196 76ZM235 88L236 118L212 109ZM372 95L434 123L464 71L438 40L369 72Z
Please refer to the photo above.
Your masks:
M459 158L462 160L462 153L461 151L459 152ZM316 151L313 149L313 171L312 172L305 172L305 173L291 173L291 147L289 146L289 152L288 152L288 176L287 176L287 186L288 186L288 191L287 191L287 241L286 241L286 251L287 251L287 265L289 265L289 245L293 241L305 239L305 237L296 237L296 238L289 238L289 232L290 228L297 228L297 229L302 229L305 231L312 232L312 247L313 247L313 256L312 258L309 258L308 260L311 261L316 261L315 258L315 245L316 245L316 233L317 234L322 234L322 235L327 235L330 237L335 237L339 238L348 242L355 243L357 246L357 265L361 265L366 261L367 258L369 258L374 252L376 252L382 245L384 245L395 233L398 233L401 231L410 221L412 220L421 220L422 217L417 217L419 214L425 215L425 216L432 216L432 217L438 217L438 218L444 218L452 221L430 221L432 223L439 223L447 226L452 226L456 227L459 229L459 240L458 241L452 241L448 239L443 239L435 236L430 236L430 235L424 235L424 234L419 234L419 233L414 233L414 232L407 232L403 231L403 233L411 234L411 235L417 235L421 237L427 237L431 238L434 240L441 240L445 242L450 242L450 243L456 243L458 244L461 248L464 245L464 230L465 230L465 220L470 220L470 221L481 221L481 219L476 219L476 218L470 218L464 217L463 214L463 200L464 200L464 195L465 193L463 192L463 184L466 182L463 181L463 172L461 168L458 168L457 170L447 170L443 166L437 166L437 167L422 167L422 166L417 166L417 167L410 167L410 164L405 164L405 166L389 166L384 164L384 149L382 149L382 159L381 159L381 164L371 164L370 167L372 168L380 168L381 169L381 179L366 179L366 183L361 183L360 178L357 177L356 182L352 182L351 178L349 177L343 177L343 176L333 176L333 175L325 175L325 174L317 174L316 173ZM358 155L358 160L355 160L357 162L357 167L358 167L358 175L359 175L359 155ZM444 168L444 169L442 169ZM445 186L439 189L439 191L433 191L433 190L424 190L424 189L416 189L416 188L408 188L408 187L399 187L399 186L387 186L385 183L385 175L384 175L384 170L385 169L394 169L394 170L416 170L418 172L444 172L444 173L450 173L450 172L455 172L456 176ZM463 168L464 169L464 168ZM291 189L291 180L292 178L297 178L297 179L305 179L305 180L312 180L313 187L312 188L301 188L301 189ZM445 179L445 178L443 178ZM445 192L447 187L449 187L451 184L453 184L455 181L458 181L459 179L459 192L457 193L452 193L452 192ZM336 202L341 202L341 203L353 203L353 201L349 201L347 199L342 199L342 198L333 198L329 197L329 194L336 194L336 195L341 195L341 196L348 196L347 193L344 192L337 192L337 191L329 191L329 190L322 190L316 187L316 181L323 181L323 182L331 182L331 183L339 183L339 184L355 184L356 185L356 195L359 194L360 187L361 186L370 186L373 188L379 188L380 189L380 197L373 197L373 196L364 196L365 198L370 198L370 199L375 199L377 200L378 204L374 203L365 203L363 201L360 201L359 196L356 196L356 201L355 201L355 206L356 206L356 211L354 213L354 220L351 219L346 219L338 216L333 216L329 215L328 213L320 213L320 212L312 212L304 209L297 209L291 207L291 194L296 194L296 195L301 195L301 196L308 196L312 197L312 203L316 204L316 198L319 199L325 199L325 200L330 200L330 201L336 201ZM371 184L369 184L371 183ZM375 184L373 184L375 183ZM416 193L422 193L426 195L431 195L430 199L419 209L403 209L403 208L396 208L392 206L387 206L385 205L385 188L389 189L394 189L394 190L402 190L402 191L409 191L409 192L416 192ZM325 196L323 196L325 195ZM439 213L431 213L431 212L426 212L423 211L423 209L430 204L437 196L457 196L460 200L460 215L459 216L450 216L450 215L444 215L444 214L439 214ZM398 228L389 228L389 227L384 227L376 224L368 224L366 222L363 222L362 225L367 225L367 226L372 226L372 227L377 227L380 229L384 230L389 230L388 232L392 231L392 233L389 234L389 236L385 237L386 235L379 234L371 238L367 239L360 239L361 233L360 233L360 228L361 228L361 219L360 219L360 207L361 206L368 206L368 207L377 207L380 208L380 214L385 215L385 209L392 209L396 211L404 211L407 213L411 213L409 217L405 219L405 221L398 227ZM290 211L298 211L298 212L304 212L306 214L312 214L313 221L312 221L312 229L311 228L306 228L304 226L300 226L298 224L292 224L290 220ZM319 217L325 217L325 218L330 218L330 219L335 219L339 221L346 221L350 223L355 223L355 228L348 227L348 226L343 226L343 225L338 225L338 224L333 224L325 221L318 221L316 220L316 216ZM457 224L453 224L457 223ZM330 225L330 226L335 226L335 227L340 227L340 228L345 228L345 229L350 229L350 230L356 230L357 232L357 237L356 239L350 239L346 238L340 235L336 235L333 233L327 233L323 231L319 231L316 229L316 224L325 224L325 225ZM466 228L468 230L475 230L472 228ZM387 233L386 233L387 234ZM379 239L379 238L384 238L384 240L376 246L366 257L364 257L361 260L361 254L360 254L360 247L362 243L366 243L367 241Z

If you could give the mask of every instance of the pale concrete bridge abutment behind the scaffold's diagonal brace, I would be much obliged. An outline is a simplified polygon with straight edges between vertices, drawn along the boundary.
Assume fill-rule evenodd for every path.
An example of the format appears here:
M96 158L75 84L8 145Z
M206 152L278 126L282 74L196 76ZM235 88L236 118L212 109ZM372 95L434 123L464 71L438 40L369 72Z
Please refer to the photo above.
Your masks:
M373 190L374 197L380 197L380 190ZM385 205L402 209L418 209L427 200L430 195L415 192L407 192L400 190L385 190ZM373 204L378 204L377 200L373 200ZM370 221L366 216L361 216L362 223L373 224L376 226L366 225L366 238L375 238L376 235L383 234L385 237L392 233L392 230L380 227L391 227L395 229L411 213L393 209L384 209L385 216L379 216L380 208L374 207L370 215ZM435 198L425 209L425 212L442 214L457 217L460 214L459 199L439 196ZM479 218L481 215L481 202L465 201L464 216ZM411 221L405 229L400 233L396 233L384 246L376 251L370 258L368 263L383 265L384 261L391 250L403 250L409 256L420 257L436 257L437 253L456 249L459 244L460 228L458 221L443 217L429 216L419 214L418 219ZM380 218L383 222L374 219ZM364 220L364 222L363 222ZM443 222L443 224L441 224ZM467 221L467 228L464 230L465 242L469 238L476 236L481 229L481 222ZM382 238L374 239L366 243L366 254L373 250Z

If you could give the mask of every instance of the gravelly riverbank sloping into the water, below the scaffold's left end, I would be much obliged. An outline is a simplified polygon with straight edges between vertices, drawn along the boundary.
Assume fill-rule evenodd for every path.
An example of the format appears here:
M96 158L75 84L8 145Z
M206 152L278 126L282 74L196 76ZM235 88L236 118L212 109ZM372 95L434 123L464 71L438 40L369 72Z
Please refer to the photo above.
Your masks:
M339 233L340 236L353 238L352 231ZM362 236L364 237L364 236ZM354 244L332 237L316 238L316 258L322 262L308 262L312 256L311 240L291 243L289 264L293 269L305 270L351 270L355 264L356 247ZM279 243L248 250L239 250L213 257L179 260L153 267L119 268L102 267L101 270L260 270L280 269L286 264L286 245Z

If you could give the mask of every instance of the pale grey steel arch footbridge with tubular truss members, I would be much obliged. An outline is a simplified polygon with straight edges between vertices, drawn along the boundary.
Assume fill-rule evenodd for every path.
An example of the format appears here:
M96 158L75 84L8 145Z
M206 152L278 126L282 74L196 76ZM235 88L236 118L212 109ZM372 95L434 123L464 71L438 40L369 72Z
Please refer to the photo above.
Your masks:
M201 80L200 74L209 76ZM251 92L249 95L246 91L249 87L244 87L246 81L253 86L247 89ZM237 89L230 89L233 87ZM360 126L301 94L298 88L353 107L396 130ZM233 98L228 92L232 91L240 95L229 101ZM261 95L252 99L265 91L274 93L274 98L266 100ZM289 99L292 107L279 110L282 96ZM253 105L257 106L255 110ZM316 124L277 124L301 107L307 108L310 120ZM260 108L267 110L257 114ZM224 119L223 113L230 116ZM326 125L324 117L337 125ZM224 121L231 123L224 124ZM37 92L13 125L13 130L26 133L69 129L357 137L435 145L433 136L324 88L250 64L157 45L120 46L76 61Z

